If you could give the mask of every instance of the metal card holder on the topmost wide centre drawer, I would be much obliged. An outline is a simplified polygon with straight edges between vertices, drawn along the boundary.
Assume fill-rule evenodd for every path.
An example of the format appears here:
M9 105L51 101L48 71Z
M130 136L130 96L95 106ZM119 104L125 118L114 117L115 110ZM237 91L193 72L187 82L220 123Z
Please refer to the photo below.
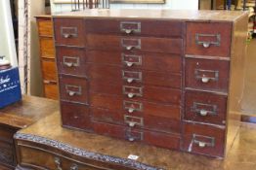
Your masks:
M121 21L120 31L126 34L141 33L141 22L136 21Z

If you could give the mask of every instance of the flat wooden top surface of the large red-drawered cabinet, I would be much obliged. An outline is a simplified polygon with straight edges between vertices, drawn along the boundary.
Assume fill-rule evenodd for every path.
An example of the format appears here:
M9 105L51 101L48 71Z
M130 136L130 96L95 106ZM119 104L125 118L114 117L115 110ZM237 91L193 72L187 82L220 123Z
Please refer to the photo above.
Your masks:
M149 9L92 9L79 12L55 14L53 17L113 17L113 18L151 18L179 20L213 20L235 21L239 17L247 17L247 12L241 11L181 11L181 10L149 10Z

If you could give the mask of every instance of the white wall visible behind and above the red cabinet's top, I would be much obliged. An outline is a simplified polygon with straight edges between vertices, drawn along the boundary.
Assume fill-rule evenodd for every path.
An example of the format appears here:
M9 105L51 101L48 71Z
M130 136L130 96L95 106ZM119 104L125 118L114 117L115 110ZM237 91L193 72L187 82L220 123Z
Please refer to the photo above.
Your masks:
M166 0L164 4L110 4L110 9L172 9L197 10L198 0ZM54 4L51 0L52 13L64 13L71 10L70 4Z

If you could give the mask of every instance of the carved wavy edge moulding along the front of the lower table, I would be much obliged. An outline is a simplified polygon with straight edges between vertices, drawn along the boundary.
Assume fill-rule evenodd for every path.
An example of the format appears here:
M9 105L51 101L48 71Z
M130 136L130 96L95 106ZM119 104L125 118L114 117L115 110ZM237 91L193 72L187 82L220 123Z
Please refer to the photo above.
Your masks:
M140 163L138 161L131 160L131 159L120 158L120 157L110 156L110 155L101 154L101 153L88 152L86 150L82 150L76 147L72 147L68 144L64 144L57 140L48 139L48 138L44 138L44 137L36 136L32 134L23 134L21 132L18 132L14 135L14 138L23 140L23 141L37 143L37 144L43 144L43 145L64 151L65 153L71 153L77 156L99 160L107 163L114 163L114 164L129 166L131 168L135 168L139 170L163 170L162 168L152 167L147 164ZM23 168L21 168L21 166L18 166L16 170L23 170Z

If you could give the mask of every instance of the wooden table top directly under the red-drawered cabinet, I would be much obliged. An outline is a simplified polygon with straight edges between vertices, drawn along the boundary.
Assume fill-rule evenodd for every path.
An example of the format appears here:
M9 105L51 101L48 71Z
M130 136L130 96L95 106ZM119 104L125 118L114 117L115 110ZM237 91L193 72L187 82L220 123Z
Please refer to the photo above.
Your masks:
M27 141L35 138L41 140L40 142L42 143L57 141L75 150L82 149L88 155L91 155L90 153L99 153L113 157L116 161L118 161L118 158L122 161L127 160L129 154L135 154L139 156L137 162L167 170L256 169L256 124L241 124L232 150L230 150L230 153L228 153L224 160L191 153L180 153L136 142L131 143L97 134L63 128L61 126L59 112L40 119L28 128L20 130L17 135L18 139Z

